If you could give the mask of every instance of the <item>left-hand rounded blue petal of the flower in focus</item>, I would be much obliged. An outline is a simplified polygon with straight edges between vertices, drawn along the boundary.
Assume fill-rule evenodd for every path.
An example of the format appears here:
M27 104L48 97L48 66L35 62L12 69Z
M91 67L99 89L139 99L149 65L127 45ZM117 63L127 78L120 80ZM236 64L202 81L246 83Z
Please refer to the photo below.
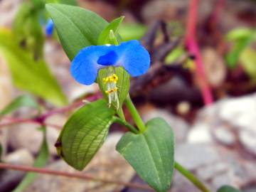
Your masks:
M104 65L99 65L97 60L99 60L102 55L104 58L106 54L110 53L112 47L113 46L89 46L80 50L80 52L75 55L70 66L70 73L73 78L85 85L90 85L95 82L97 70L105 67Z

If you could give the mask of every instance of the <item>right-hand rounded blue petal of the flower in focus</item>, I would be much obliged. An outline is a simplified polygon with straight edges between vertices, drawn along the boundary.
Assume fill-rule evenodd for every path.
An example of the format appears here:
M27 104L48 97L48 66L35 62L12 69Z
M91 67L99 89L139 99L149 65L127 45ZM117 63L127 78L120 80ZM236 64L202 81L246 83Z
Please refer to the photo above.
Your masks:
M123 66L133 77L146 73L150 65L149 52L137 40L127 41L115 47L119 56L118 66Z

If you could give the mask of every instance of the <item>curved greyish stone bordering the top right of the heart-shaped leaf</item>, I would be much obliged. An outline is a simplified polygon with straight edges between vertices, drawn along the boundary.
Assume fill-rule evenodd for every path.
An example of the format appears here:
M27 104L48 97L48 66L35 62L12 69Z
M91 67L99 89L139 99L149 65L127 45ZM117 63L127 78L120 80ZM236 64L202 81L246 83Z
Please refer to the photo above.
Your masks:
M147 122L149 119L154 117L161 117L165 119L166 122L171 126L171 129L174 131L176 142L179 143L186 140L188 124L180 117L171 114L171 112L168 112L167 110L155 108L152 105L145 105L144 107L140 108L140 112L144 122Z

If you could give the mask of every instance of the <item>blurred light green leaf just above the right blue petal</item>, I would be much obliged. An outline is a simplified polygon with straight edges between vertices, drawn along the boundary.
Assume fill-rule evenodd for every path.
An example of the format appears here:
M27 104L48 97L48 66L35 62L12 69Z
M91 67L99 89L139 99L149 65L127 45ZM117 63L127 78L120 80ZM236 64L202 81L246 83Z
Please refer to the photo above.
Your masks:
M146 33L146 26L142 24L122 24L119 27L119 35L123 41L130 41L133 39L140 39Z

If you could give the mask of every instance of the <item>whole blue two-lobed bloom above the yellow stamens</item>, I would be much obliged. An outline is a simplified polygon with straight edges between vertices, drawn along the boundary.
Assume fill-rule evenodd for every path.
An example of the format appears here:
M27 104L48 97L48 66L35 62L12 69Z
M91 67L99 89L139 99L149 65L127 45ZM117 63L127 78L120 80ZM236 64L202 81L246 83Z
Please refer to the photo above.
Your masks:
M148 51L132 40L119 46L89 46L82 48L75 55L70 67L70 73L81 84L90 85L95 82L100 68L122 66L136 77L149 69L150 57Z

